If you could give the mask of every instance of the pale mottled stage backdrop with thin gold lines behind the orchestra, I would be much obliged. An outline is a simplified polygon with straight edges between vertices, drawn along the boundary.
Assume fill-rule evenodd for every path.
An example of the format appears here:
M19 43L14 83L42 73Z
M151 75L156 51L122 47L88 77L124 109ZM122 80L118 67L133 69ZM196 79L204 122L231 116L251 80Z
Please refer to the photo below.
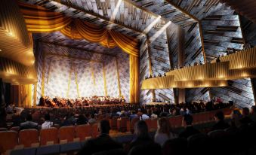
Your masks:
M37 104L43 96L68 98L124 96L129 102L130 77L127 53L89 53L53 44L37 44Z

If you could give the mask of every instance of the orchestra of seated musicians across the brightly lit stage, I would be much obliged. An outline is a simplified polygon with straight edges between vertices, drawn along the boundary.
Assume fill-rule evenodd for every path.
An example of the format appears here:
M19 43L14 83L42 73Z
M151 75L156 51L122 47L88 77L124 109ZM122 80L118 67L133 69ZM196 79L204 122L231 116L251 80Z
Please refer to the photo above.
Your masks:
M82 97L77 99L69 99L62 97L54 97L51 99L49 96L42 96L39 100L40 106L46 107L78 107L78 106L89 106L89 105L117 105L125 103L123 97L110 97L110 96L91 96Z

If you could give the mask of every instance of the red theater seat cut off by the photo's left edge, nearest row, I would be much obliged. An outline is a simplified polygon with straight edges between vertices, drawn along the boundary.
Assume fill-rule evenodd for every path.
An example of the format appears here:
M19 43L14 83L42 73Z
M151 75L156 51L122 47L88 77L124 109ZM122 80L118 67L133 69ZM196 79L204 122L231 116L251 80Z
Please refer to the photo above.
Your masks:
M13 149L18 144L18 134L14 131L0 132L0 153Z

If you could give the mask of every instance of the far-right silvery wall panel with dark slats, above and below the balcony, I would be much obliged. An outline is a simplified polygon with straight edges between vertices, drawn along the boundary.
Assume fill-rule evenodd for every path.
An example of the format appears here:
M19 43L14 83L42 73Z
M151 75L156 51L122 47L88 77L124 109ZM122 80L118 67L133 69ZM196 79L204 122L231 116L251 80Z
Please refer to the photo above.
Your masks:
M202 20L206 59L227 53L227 49L242 49L243 38L239 16L223 6L219 11ZM234 101L239 107L250 107L254 102L250 79L229 81L229 87L214 87L211 96L221 97L224 102Z

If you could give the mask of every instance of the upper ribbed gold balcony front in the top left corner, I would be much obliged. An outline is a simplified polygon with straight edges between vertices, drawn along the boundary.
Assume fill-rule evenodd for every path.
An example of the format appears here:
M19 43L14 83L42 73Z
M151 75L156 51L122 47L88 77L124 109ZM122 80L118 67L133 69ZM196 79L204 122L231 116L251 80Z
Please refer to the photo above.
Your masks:
M15 0L1 1L0 56L27 66L32 66L35 62L32 36L26 30L23 14Z

